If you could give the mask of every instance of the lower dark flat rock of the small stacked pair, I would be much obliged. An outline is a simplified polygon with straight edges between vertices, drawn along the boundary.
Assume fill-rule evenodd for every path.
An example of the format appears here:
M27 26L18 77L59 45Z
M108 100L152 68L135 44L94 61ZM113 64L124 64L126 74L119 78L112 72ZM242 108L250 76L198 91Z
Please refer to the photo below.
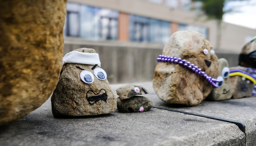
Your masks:
M153 102L143 96L134 96L129 99L121 100L119 97L116 99L117 109L120 113L138 113L146 112L153 106Z

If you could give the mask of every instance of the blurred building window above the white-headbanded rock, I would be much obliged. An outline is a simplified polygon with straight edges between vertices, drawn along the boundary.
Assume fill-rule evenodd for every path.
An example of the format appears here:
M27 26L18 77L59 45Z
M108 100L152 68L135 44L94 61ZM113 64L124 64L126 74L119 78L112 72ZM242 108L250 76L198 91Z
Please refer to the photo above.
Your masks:
M67 3L64 35L90 40L116 40L119 12Z

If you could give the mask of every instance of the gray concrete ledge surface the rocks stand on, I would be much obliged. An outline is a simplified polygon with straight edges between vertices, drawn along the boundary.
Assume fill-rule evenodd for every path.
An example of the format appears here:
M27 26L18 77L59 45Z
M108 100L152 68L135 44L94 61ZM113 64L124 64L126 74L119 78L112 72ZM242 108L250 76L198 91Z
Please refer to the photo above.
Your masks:
M152 108L142 113L54 118L48 99L26 117L0 126L0 145L255 145L256 97L203 101L185 107L162 102L152 82L135 83L149 90L143 96L154 106L244 122L235 124ZM125 84L112 84L114 91ZM117 96L118 97L118 96Z

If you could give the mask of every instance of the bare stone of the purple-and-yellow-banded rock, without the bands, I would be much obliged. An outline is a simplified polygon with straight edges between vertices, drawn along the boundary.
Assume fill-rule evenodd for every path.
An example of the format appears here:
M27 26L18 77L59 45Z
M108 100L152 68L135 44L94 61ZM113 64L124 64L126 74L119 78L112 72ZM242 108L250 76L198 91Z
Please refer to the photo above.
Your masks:
M230 70L241 69L250 74L252 73L249 70L247 70L246 68L241 67L241 66L231 67L229 69ZM232 76L232 77L230 77L230 82L231 82L232 88L234 90L234 92L233 92L234 99L252 96L253 83L250 80L248 80L247 78L243 78L241 76Z

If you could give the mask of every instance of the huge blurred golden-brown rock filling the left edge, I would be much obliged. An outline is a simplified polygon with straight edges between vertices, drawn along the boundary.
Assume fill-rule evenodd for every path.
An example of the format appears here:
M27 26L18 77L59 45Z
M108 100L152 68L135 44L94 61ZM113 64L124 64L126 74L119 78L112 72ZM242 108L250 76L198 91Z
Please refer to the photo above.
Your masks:
M67 0L0 2L0 125L41 106L56 87Z

